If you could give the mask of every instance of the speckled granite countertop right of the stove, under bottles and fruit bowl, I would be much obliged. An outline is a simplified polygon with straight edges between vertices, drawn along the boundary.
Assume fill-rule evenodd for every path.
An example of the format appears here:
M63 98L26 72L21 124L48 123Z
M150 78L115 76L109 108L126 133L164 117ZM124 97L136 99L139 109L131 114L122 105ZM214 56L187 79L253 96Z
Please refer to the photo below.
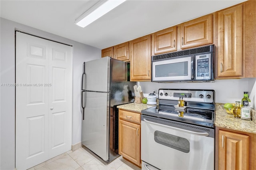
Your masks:
M215 104L215 126L256 134L255 110L252 113L253 121L246 121L229 115L223 110L221 105L223 103Z

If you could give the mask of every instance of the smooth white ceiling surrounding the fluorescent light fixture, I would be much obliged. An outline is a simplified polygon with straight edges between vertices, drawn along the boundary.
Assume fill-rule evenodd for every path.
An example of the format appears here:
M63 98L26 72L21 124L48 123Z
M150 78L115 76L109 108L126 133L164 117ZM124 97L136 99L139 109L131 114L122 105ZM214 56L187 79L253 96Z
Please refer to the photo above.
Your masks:
M100 49L245 0L128 0L89 26L74 24L97 0L1 0L0 16Z

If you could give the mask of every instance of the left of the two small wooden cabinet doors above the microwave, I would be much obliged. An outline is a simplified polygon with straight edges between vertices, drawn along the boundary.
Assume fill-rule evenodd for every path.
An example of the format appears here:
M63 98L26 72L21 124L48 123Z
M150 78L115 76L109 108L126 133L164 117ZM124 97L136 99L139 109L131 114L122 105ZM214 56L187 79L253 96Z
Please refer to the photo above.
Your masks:
M154 33L154 55L177 50L177 26Z

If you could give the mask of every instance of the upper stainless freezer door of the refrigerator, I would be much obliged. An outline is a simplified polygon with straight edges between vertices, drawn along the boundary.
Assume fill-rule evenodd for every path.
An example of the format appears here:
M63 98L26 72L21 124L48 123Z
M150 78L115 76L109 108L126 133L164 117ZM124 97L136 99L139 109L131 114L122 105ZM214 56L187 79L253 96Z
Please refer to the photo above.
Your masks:
M110 91L110 57L85 62L84 67L86 91Z

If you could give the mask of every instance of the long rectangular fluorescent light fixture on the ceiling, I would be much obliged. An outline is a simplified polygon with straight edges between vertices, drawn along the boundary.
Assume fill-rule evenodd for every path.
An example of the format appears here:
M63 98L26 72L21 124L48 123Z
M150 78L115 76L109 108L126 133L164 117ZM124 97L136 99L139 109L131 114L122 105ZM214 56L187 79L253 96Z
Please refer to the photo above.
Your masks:
M78 17L75 20L75 23L76 25L84 28L116 8L118 5L122 4L124 1L126 0L100 0L89 10L84 12L84 14Z

